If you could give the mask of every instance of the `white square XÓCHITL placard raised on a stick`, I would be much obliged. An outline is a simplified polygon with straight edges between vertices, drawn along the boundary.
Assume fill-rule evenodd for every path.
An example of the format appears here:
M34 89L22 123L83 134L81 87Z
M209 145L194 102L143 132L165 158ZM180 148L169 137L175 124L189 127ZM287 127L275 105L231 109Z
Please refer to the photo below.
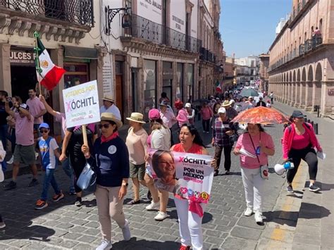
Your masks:
M63 89L63 101L67 127L75 127L100 121L97 81Z

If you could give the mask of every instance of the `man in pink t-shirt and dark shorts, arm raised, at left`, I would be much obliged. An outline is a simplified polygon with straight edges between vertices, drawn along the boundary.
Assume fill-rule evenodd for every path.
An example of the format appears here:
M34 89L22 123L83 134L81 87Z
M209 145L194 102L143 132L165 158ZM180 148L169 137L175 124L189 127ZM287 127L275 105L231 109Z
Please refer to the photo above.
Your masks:
M6 112L13 116L16 121L16 147L14 151L13 163L13 180L5 185L6 190L16 188L16 177L20 168L20 162L30 165L32 170L32 181L29 187L38 184L37 167L35 163L35 142L34 142L34 117L29 113L29 106L27 104L20 104L16 106L18 112L14 112L9 108L8 101L6 101Z

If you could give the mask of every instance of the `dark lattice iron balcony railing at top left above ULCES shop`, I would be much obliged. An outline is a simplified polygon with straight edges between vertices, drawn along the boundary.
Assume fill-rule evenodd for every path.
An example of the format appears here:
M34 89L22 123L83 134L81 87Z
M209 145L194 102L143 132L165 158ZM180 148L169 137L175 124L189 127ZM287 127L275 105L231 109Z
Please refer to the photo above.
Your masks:
M94 26L93 0L0 0L1 8L68 23Z

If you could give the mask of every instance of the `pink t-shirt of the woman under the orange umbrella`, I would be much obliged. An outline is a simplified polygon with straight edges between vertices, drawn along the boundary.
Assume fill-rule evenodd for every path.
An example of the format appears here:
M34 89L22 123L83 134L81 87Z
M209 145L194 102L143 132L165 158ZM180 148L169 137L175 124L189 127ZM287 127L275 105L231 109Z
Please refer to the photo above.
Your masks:
M266 146L268 149L275 149L275 145L273 144L273 139L270 135L268 135L266 132L260 132L261 133L261 142L264 143L264 146ZM252 140L255 146L255 149L257 146L259 146L260 141L260 135L252 136ZM249 133L244 133L240 135L239 139L237 139L237 144L235 145L236 149L245 149L251 154L256 155L252 141L249 137ZM257 158L252 158L249 156L244 156L243 154L240 154L240 165L244 168L259 168L260 165L267 165L268 163L268 156L264 154L263 151L260 149L259 154L259 161L257 161Z

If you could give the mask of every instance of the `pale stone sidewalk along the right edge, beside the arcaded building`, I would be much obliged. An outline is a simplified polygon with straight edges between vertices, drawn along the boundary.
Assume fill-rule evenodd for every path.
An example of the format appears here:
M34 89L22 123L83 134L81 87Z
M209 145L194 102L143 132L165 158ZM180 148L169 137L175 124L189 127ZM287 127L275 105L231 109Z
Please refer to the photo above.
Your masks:
M287 115L294 110L300 110L279 102L275 102L274 107ZM307 119L318 123L317 137L323 151L327 154L325 161L318 160L317 185L321 187L321 192L316 194L309 192L309 182L305 181L309 180L309 175L307 165L304 164L298 171L302 176L297 178L299 179L298 193L287 199L284 199L286 193L280 196L285 200L283 204L286 213L290 214L290 220L285 220L283 227L273 232L271 239L275 240L271 243L284 245L285 249L334 249L334 121L330 118L317 118L314 114L300 111L307 115ZM278 202L278 206L281 204ZM299 207L298 213L291 211L292 207ZM293 215L295 218L291 218Z

